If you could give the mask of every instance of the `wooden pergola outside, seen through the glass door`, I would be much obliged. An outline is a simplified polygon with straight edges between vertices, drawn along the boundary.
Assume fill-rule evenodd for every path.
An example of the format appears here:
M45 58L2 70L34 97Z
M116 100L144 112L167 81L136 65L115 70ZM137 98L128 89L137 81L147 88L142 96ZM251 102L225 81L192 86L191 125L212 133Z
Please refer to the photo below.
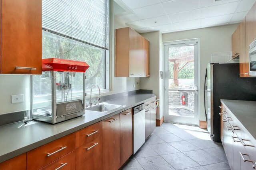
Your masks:
M189 62L194 61L194 50L186 51L183 53L180 53L171 59L169 59L169 62L174 62L173 65L173 82L175 85L179 85L178 81L178 73L180 70L182 70ZM186 62L182 67L179 68L180 63Z

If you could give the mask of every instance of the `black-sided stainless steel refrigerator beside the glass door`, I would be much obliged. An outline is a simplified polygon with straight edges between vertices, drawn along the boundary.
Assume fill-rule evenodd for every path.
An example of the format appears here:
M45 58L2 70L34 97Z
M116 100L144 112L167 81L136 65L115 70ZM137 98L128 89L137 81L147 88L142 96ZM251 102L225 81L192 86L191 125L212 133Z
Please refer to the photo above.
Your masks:
M239 63L207 65L204 108L207 129L216 142L220 142L220 99L256 101L256 77L239 77Z

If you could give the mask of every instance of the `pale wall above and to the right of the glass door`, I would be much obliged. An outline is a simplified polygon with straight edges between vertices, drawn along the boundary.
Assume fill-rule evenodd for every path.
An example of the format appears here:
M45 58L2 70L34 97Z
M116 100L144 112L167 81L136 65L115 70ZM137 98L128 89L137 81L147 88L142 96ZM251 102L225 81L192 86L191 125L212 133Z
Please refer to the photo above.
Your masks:
M187 40L200 38L200 54L199 54L199 113L200 120L205 121L204 114L204 76L207 63L211 61L213 52L232 51L231 36L238 24L226 26L217 26L211 28L202 28L196 30L188 30L182 32L174 32L162 35L163 42L171 42L177 40Z

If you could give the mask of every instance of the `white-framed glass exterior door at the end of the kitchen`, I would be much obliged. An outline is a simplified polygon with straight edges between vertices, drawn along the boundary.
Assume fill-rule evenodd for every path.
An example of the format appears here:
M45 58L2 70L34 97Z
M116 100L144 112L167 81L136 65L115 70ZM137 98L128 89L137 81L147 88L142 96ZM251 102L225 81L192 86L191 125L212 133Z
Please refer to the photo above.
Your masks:
M198 42L164 44L166 122L198 125Z

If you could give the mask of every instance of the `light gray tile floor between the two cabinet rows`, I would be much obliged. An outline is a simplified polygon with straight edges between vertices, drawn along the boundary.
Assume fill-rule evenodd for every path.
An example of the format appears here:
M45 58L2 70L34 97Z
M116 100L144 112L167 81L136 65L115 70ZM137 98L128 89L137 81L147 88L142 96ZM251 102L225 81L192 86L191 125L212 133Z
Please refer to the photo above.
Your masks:
M122 170L230 170L221 143L199 127L163 123Z

